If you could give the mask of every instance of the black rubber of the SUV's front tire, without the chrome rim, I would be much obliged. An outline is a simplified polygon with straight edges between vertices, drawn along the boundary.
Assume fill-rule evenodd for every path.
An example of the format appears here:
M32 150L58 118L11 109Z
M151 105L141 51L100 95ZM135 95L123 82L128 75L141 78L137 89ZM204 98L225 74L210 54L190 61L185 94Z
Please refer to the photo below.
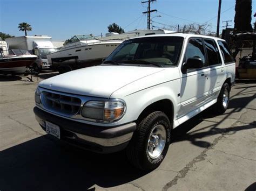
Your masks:
M151 131L156 129L157 125L160 125L161 127L164 126L166 140L159 157L152 159L148 151L148 140L151 136ZM171 127L169 118L161 111L152 112L142 119L126 148L126 156L131 164L144 171L150 171L157 168L164 160L171 143Z

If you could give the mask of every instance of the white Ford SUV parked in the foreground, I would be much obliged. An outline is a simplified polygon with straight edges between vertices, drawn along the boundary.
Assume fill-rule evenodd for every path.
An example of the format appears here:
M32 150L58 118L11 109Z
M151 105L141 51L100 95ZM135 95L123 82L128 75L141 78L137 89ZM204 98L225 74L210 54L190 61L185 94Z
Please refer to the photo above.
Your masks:
M138 168L163 161L172 129L214 105L227 109L235 63L224 40L172 33L124 41L100 66L39 83L36 119L87 150L125 149Z

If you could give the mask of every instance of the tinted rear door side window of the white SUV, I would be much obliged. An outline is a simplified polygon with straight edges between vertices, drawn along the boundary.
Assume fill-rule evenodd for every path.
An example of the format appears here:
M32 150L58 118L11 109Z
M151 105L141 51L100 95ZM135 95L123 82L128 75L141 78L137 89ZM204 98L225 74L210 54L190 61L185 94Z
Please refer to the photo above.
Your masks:
M208 65L212 66L221 63L220 54L215 41L210 39L205 39L204 41L208 56Z

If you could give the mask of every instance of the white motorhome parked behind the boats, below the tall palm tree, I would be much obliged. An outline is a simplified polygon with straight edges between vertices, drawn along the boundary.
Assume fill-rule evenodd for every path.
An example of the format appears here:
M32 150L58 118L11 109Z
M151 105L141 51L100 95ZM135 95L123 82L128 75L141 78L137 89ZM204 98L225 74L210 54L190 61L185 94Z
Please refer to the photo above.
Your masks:
M46 55L55 52L56 47L51 43L48 36L22 36L7 38L6 43L10 49L25 49L35 54L38 58L32 63L33 70L39 72L42 69L51 69Z

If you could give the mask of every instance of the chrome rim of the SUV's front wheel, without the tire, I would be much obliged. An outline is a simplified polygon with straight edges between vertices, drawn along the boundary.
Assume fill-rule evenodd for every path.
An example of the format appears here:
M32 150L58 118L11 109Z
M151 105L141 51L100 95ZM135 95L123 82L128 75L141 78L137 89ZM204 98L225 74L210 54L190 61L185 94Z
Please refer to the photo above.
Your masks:
M147 141L147 154L151 159L158 158L164 150L166 143L166 130L164 125L156 125L152 129Z

